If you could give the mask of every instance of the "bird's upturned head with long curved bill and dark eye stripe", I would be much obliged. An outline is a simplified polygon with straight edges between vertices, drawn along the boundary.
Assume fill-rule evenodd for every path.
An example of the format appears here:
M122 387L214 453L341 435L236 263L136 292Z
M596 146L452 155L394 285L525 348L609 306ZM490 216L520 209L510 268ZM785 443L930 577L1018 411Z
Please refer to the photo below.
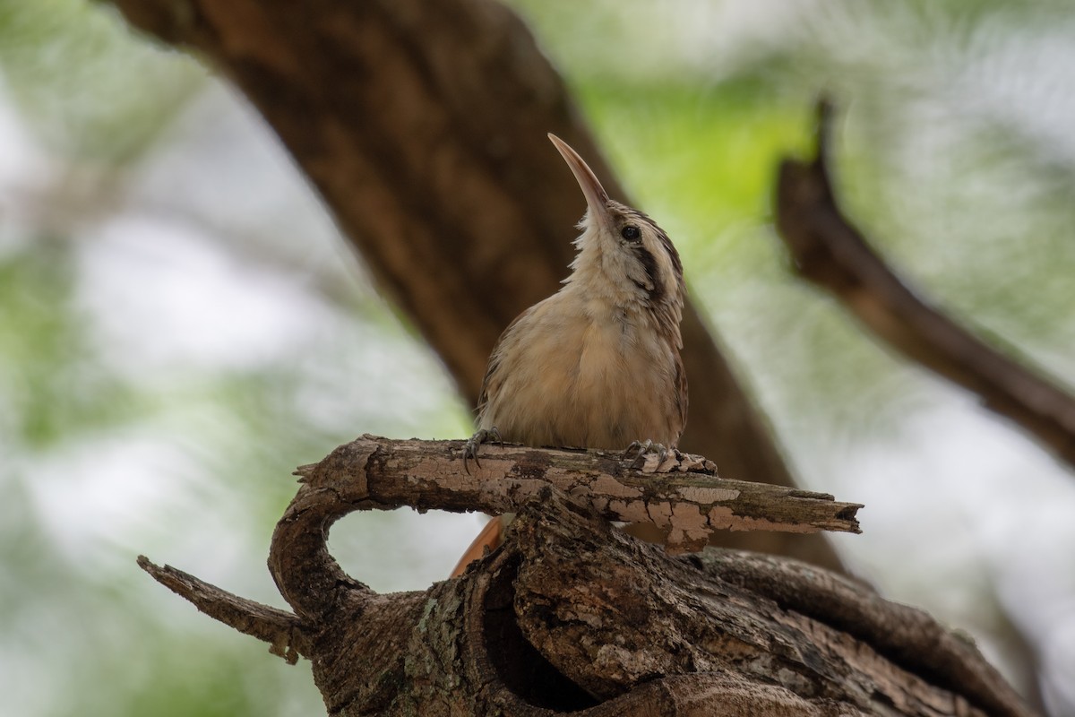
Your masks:
M608 198L578 153L549 134L586 197L586 214L575 240L578 256L569 284L602 293L617 304L649 306L678 326L684 282L679 254L664 230L642 212Z

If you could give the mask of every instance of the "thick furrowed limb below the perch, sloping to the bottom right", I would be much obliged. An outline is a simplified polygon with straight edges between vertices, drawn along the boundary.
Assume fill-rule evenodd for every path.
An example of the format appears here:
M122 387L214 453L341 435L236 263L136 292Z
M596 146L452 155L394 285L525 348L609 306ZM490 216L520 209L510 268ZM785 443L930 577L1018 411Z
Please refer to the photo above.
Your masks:
M535 515L519 528L516 540L522 553L542 559L520 569L515 604L527 637L539 648L556 640L556 648L543 654L565 670L570 659L577 659L570 665L573 679L591 693L619 693L650 672L721 668L735 655L740 675L750 674L755 660L775 658L798 677L820 677L815 686L832 680L848 693L859 689L859 677L852 674L871 673L868 684L876 692L855 704L863 712L885 705L900 714L915 713L922 708L916 701L933 701L932 708L947 704L959 714L954 703L965 701L969 712L1026 714L1019 698L972 643L921 611L880 600L864 585L792 560L728 550L673 563L655 550L628 548L624 561L641 571L627 577L613 568L619 561L604 546L589 545L586 531L569 524ZM692 567L704 576L690 575ZM587 589L576 590L576 580ZM610 584L631 587L613 592ZM606 588L596 590L593 585ZM749 607L739 611L733 605ZM617 634L624 623L637 632ZM775 625L786 632L774 643L769 630ZM606 641L594 640L603 630ZM670 637L688 630L690 644ZM596 647L594 642L616 649ZM850 643L858 647L848 650ZM775 682L789 687L796 679L788 675ZM792 691L803 694L801 689Z

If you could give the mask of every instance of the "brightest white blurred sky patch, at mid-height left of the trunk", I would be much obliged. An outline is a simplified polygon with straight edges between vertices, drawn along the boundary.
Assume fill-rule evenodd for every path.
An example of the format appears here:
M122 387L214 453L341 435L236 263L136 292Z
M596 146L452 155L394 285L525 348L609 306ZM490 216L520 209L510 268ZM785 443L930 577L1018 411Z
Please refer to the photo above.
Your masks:
M119 217L81 248L78 303L128 375L256 368L331 313L293 277L167 223Z

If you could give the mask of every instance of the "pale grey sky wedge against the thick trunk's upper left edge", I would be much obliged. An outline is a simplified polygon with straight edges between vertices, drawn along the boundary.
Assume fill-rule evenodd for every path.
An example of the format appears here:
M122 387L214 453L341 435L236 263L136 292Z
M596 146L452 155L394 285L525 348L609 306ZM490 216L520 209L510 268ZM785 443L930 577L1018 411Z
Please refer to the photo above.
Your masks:
M245 245L247 255L254 247L293 274L327 274L356 296L374 293L280 138L224 83L210 83L176 118L127 192L132 207L187 221L224 244Z

